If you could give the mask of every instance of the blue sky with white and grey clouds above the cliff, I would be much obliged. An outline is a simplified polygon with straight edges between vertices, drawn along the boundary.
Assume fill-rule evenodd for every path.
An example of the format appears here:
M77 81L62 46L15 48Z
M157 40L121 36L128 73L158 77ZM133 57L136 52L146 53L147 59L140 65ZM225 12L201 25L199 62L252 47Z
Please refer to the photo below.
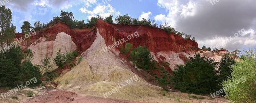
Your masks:
M230 52L256 48L256 0L0 0L12 10L12 23L27 20L49 22L60 10L73 12L76 20L100 15L128 14L132 18L165 21L175 30L191 34L199 47L217 47Z

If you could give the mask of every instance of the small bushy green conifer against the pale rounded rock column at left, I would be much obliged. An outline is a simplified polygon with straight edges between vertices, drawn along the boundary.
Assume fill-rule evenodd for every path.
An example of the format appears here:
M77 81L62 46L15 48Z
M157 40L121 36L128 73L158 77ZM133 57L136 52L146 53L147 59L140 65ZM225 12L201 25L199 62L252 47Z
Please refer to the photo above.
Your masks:
M61 53L61 50L57 52L57 56L53 58L53 61L55 64L61 68L63 68L65 62L66 62L66 55L64 53Z

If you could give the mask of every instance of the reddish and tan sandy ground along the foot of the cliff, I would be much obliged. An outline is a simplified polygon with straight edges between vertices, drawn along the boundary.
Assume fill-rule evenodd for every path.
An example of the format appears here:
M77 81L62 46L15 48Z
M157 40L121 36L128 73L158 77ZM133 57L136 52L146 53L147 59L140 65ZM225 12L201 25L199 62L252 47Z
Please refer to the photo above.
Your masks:
M115 98L102 98L95 96L81 96L74 92L65 90L57 90L53 87L46 87L35 92L39 92L37 96L27 97L25 94L32 89L24 89L17 94L13 94L8 98L0 98L0 103L227 103L227 99L204 97L194 95L197 97L204 97L205 99L188 98L187 93L181 92L166 92L163 96L159 92L159 96L154 97L141 97L134 100L115 99ZM11 99L17 96L19 99Z

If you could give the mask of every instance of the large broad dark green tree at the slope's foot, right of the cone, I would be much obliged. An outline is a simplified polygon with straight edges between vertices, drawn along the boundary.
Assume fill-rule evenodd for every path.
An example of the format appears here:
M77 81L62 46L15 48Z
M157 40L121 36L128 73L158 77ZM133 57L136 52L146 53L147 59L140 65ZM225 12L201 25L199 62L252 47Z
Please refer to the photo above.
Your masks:
M216 92L218 75L215 68L218 62L200 53L189 57L190 61L185 65L176 65L173 71L173 85L181 92L193 92L196 94L208 94Z

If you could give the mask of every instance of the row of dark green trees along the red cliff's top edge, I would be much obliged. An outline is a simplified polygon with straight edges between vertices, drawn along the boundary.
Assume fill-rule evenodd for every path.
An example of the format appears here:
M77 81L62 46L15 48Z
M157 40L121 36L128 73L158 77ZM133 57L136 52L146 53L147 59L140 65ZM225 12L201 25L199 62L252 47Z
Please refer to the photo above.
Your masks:
M57 24L59 21L62 21L66 23L71 28L84 28L84 27L92 27L96 24L96 21L99 19L102 19L103 21L114 24L113 15L110 14L106 18L102 18L99 15L96 17L92 17L91 19L87 20L87 23L85 23L85 20L75 20L74 15L72 12L66 12L62 11L59 16L53 17L52 20L46 23L41 23L41 21L36 21L34 23L34 27L31 26L31 24L28 21L24 21L23 25L21 26L22 33L26 33L27 31L30 31L31 29L43 30L43 28L47 28L49 26L52 26L53 24ZM117 24L129 24L129 25L145 25L150 26L154 28L159 28L165 30L168 34L174 33L178 34L181 37L185 35L185 39L191 39L191 34L182 33L180 31L176 31L173 27L169 26L168 22L165 21L163 25L159 25L156 23L155 20L147 20L145 18L142 18L142 20L138 20L137 18L131 18L128 14L119 16L115 18L115 21ZM193 37L191 40L195 41L195 37Z

